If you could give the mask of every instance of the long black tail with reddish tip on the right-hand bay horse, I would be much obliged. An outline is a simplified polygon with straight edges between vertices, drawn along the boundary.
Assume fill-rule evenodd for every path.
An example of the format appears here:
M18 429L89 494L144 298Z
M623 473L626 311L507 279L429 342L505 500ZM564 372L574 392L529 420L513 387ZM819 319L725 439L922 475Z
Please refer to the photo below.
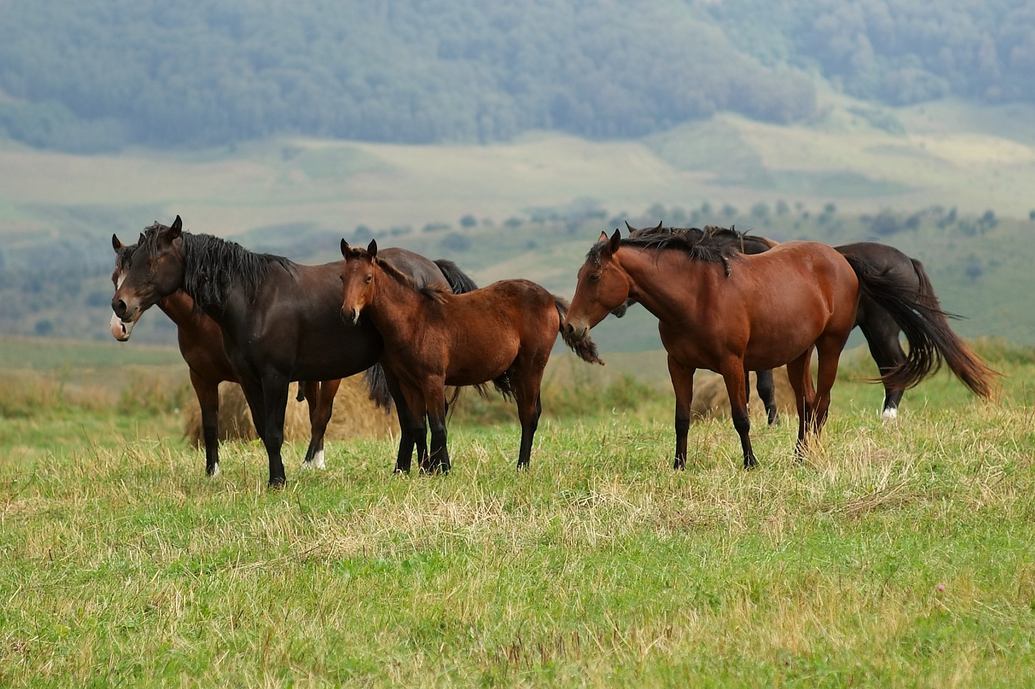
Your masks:
M859 277L859 289L883 306L906 333L909 354L906 361L881 377L881 382L895 390L911 388L942 366L949 369L972 392L982 397L993 394L993 370L949 327L923 265L913 261L919 289L906 287L888 272L859 257L845 257Z

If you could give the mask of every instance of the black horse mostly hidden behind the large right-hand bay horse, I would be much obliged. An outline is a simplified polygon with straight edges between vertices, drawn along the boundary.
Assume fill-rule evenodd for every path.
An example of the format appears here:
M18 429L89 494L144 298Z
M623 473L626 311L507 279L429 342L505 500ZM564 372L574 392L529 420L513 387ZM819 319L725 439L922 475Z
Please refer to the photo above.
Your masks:
M762 253L777 244L777 242L771 239L737 232L733 228L706 227L704 230L697 228L677 229L662 228L658 223L657 227L653 228L635 229L629 226L628 222L625 226L629 229L630 237L664 233L687 234L693 237L701 237L701 241L709 244L732 243L742 253ZM601 239L607 239L607 235L603 234ZM945 318L947 314L942 310L938 295L935 294L935 289L923 268L923 264L893 246L877 242L840 244L834 246L834 248L842 256L865 259L880 272L896 280L903 290L914 293L923 300L930 308L929 313L931 317L942 321L942 329L946 333L946 336L956 340L954 347L946 350L950 353L950 356L946 357L949 369L964 385L976 392L976 388L980 386L980 372L974 370L974 360L971 356L951 356L957 352L968 352L968 350L959 341L958 337L952 333ZM631 305L632 303L635 303L634 300L627 301L626 304L616 309L615 316L621 318L625 312L626 305ZM906 360L906 352L903 351L901 343L899 342L899 333L901 330L898 324L895 323L886 308L881 306L865 292L859 295L859 308L856 313L855 325L862 331L863 337L866 339L866 346L869 348L870 356L873 356L874 361L877 363L881 376L892 370ZM769 423L774 423L776 421L776 405L772 371L758 371L757 385L759 397L766 407ZM895 389L885 384L884 406L881 409L881 417L885 421L897 417L898 405L901 401L904 392L905 390L903 389Z

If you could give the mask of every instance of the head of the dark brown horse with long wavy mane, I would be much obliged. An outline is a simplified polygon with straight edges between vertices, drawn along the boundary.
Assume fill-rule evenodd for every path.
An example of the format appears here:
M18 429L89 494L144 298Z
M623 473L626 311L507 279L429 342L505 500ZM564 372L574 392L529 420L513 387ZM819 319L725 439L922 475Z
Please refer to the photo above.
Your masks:
M141 313L183 287L182 232L183 221L179 215L168 228L155 222L141 235L128 257L120 253L127 247L117 237L112 237L112 246L119 253L112 274L115 281L112 311L125 328L126 339ZM112 334L119 338L114 320Z

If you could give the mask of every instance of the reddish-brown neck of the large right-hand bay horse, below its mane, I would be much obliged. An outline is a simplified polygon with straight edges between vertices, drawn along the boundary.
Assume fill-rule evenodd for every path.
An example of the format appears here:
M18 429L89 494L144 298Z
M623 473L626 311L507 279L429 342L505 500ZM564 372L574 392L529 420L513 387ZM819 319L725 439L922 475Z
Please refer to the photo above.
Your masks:
M629 296L660 321L686 320L687 301L710 292L721 264L689 261L677 250L619 249L615 260L629 279Z

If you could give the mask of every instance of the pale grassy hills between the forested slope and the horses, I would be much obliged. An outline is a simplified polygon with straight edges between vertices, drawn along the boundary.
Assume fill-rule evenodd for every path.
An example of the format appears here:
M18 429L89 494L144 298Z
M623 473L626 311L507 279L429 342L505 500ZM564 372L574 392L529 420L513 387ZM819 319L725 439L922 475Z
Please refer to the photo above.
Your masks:
M180 214L190 231L302 262L335 260L343 236L377 236L452 258L480 282L529 277L567 296L600 230L626 218L876 239L926 264L946 307L971 318L965 334L1035 340L1025 318L1035 288L1032 108L878 109L831 93L822 102L823 115L801 125L719 114L622 142L276 140L123 155L2 143L0 166L17 174L0 187L0 332L108 337L111 234L131 241ZM882 213L890 224L877 222ZM603 326L602 341L656 349L652 321L630 318ZM153 330L145 323L135 338L171 342L160 317L149 320Z

